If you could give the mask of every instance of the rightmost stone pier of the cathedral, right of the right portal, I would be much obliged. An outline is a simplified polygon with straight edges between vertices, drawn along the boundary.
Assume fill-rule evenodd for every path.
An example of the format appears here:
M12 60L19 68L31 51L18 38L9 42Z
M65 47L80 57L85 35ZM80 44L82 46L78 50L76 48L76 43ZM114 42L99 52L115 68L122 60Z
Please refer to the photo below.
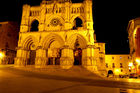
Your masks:
M94 57L94 45L88 45L82 51L82 65L90 71L97 72L96 61Z

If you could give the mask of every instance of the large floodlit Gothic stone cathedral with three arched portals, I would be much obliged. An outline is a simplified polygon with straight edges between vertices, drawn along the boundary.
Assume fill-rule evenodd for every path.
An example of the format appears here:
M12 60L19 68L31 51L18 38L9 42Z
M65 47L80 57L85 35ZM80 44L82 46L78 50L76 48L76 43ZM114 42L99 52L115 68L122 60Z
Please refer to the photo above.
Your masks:
M76 65L106 73L105 43L96 42L92 14L92 0L23 5L15 65L59 65L63 69Z

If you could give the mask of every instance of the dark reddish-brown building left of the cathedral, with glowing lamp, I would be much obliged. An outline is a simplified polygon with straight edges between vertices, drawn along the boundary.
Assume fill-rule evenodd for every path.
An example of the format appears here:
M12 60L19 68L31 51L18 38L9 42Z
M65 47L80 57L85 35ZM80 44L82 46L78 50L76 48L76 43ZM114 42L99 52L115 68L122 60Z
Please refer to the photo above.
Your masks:
M18 43L18 24L0 22L0 64L13 64Z

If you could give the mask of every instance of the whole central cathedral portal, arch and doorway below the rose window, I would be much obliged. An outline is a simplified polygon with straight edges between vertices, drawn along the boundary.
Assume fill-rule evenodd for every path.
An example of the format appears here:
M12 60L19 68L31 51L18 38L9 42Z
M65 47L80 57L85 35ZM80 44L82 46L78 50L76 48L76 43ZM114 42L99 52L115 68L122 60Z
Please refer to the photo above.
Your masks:
M49 34L42 40L42 46L46 49L47 65L60 65L61 48L64 40L58 34Z

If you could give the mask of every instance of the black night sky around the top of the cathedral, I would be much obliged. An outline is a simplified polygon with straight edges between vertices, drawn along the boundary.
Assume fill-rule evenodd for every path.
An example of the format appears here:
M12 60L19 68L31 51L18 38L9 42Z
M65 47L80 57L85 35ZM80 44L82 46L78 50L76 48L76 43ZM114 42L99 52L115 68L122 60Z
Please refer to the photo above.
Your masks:
M20 24L22 5L39 5L41 1L5 0L0 3L0 21L11 20ZM93 0L97 41L106 43L107 54L129 53L127 25L129 20L140 17L139 9L138 0Z

